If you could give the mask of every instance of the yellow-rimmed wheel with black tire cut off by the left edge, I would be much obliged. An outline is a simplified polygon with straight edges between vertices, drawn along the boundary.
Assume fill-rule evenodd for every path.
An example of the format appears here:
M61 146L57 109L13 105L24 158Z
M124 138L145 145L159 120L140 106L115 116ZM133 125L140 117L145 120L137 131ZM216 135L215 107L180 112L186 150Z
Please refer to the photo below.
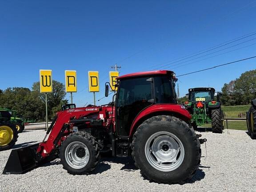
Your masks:
M16 143L18 132L14 124L0 122L0 151L8 150Z

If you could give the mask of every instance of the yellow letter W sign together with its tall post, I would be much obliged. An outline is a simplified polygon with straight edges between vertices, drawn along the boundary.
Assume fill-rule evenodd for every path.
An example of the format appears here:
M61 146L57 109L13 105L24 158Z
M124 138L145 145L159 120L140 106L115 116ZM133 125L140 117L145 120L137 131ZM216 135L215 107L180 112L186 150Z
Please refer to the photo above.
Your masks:
M48 130L47 93L52 92L52 70L40 70L40 92L45 93L46 130Z

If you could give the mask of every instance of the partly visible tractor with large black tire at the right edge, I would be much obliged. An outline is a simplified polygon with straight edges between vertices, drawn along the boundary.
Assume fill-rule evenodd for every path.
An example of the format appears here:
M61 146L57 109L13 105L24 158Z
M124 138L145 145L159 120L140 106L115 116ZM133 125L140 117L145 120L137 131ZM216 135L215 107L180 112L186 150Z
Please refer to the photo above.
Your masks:
M256 93L254 98L251 108L246 112L248 133L252 139L256 139Z

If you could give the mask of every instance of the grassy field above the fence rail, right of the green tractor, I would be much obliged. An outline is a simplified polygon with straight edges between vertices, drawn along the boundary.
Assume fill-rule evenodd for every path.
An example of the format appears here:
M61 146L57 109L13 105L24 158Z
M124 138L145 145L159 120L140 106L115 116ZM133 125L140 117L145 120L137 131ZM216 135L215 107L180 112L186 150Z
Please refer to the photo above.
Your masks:
M221 109L223 110L225 117L241 117L239 114L242 112L242 115L245 118L245 112L247 112L250 107L251 105L221 106Z

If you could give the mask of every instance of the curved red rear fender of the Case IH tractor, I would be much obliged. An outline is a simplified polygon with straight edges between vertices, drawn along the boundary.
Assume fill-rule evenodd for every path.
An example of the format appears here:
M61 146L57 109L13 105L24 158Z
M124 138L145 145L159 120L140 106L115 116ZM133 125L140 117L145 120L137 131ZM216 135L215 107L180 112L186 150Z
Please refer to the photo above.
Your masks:
M178 104L154 104L150 105L148 108L142 110L132 122L129 136L135 132L138 124L141 124L144 120L155 116L155 115L173 115L178 116L180 119L190 122L192 116L186 110L183 105Z

